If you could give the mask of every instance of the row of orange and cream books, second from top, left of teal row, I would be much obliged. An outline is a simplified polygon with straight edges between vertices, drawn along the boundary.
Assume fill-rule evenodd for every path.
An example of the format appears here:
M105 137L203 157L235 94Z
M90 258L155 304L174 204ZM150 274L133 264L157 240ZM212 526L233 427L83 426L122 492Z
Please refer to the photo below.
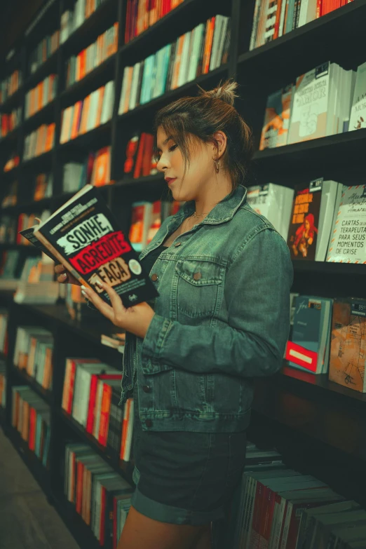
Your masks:
M100 34L97 40L67 62L66 87L83 79L88 72L116 53L118 48L118 23Z

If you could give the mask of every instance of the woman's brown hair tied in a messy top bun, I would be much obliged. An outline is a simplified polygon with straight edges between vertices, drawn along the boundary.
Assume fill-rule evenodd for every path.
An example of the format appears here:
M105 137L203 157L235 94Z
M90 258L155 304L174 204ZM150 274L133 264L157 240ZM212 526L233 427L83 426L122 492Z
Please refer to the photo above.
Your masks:
M234 190L245 179L252 157L252 133L233 107L238 84L228 80L214 90L198 88L198 97L182 97L158 111L155 130L161 126L172 137L182 152L186 169L192 138L217 144L215 133L224 132L227 144L220 160L231 175Z

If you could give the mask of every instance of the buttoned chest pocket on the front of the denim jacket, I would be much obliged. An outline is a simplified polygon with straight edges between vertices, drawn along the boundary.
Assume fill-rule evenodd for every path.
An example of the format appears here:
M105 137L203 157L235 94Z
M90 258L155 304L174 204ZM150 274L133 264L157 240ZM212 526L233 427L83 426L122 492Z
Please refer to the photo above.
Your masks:
M190 318L212 318L221 301L224 267L210 261L182 260L175 269L179 313Z

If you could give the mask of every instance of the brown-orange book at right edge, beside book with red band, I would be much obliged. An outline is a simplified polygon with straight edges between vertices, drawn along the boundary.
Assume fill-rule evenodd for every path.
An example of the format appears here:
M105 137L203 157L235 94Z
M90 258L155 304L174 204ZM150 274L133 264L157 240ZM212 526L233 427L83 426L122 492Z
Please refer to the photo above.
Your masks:
M329 379L366 392L366 300L334 299Z

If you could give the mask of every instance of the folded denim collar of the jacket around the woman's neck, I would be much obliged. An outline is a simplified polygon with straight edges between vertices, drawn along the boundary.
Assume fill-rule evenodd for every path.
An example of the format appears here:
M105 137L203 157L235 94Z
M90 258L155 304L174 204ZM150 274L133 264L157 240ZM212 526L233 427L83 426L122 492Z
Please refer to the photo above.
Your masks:
M228 194L222 199L215 208L213 208L205 219L201 221L201 224L219 224L226 221L230 221L236 213L236 210L245 203L247 196L247 189L243 185L239 185L233 194ZM196 203L194 201L186 202L177 213L177 217L188 217L196 210Z

